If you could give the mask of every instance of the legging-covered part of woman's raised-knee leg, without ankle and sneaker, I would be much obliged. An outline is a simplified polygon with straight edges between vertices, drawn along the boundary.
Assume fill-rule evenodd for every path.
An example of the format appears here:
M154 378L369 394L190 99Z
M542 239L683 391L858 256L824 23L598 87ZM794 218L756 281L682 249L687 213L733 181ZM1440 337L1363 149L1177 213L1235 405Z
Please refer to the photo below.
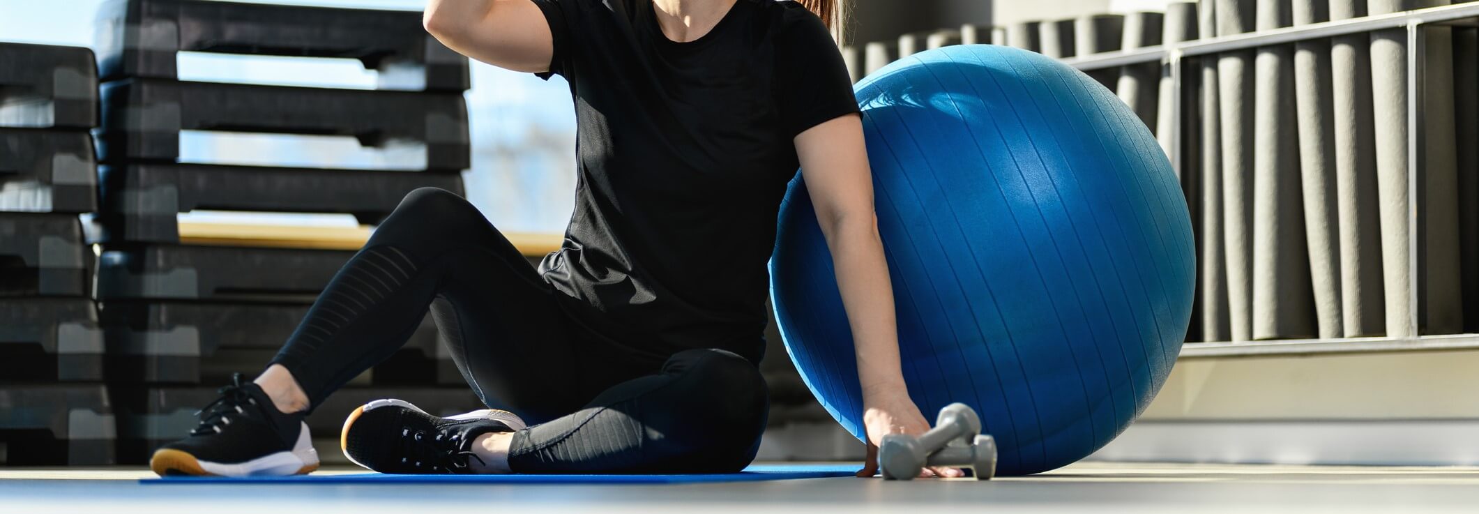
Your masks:
M405 197L339 271L272 364L308 407L401 348L433 308L453 357L485 403L540 381L552 407L584 401L553 289L488 221L456 194ZM569 373L578 375L578 373ZM263 387L268 390L268 387ZM515 412L519 407L507 406Z

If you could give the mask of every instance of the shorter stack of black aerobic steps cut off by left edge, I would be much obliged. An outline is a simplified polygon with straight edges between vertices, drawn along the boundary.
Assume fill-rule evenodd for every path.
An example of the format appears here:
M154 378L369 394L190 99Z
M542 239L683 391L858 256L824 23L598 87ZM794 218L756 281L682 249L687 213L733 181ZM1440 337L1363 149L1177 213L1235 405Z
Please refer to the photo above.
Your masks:
M84 47L0 43L0 464L114 462L80 213L98 206Z

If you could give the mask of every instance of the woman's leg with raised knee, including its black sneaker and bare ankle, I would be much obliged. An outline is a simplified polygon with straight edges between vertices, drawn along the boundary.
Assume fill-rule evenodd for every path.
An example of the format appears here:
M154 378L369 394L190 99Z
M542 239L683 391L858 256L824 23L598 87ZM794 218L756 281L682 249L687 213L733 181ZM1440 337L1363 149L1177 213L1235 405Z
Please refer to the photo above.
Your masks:
M306 410L401 348L433 299L479 395L532 382L544 403L574 410L590 394L574 391L586 382L563 364L574 351L553 295L478 209L442 190L413 191L324 289L260 385L222 388L200 425L157 450L151 468L161 475L312 471L318 455Z

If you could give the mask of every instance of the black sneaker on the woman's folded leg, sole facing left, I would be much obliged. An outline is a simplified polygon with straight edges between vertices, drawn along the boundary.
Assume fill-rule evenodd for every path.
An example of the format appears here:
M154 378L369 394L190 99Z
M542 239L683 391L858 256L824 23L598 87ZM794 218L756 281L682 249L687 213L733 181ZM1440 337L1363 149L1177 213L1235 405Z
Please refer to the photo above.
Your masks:
M484 409L438 418L404 400L374 400L345 419L339 446L351 462L379 473L472 473L472 441L487 433L524 430L507 410Z

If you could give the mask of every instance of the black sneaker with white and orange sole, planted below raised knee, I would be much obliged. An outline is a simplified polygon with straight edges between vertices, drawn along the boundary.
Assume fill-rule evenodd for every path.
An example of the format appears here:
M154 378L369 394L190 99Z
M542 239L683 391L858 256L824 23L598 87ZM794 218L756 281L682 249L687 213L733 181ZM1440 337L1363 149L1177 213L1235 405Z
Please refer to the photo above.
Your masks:
M318 470L318 452L303 413L282 413L262 387L241 375L198 412L189 437L154 452L149 468L163 475L291 475Z

